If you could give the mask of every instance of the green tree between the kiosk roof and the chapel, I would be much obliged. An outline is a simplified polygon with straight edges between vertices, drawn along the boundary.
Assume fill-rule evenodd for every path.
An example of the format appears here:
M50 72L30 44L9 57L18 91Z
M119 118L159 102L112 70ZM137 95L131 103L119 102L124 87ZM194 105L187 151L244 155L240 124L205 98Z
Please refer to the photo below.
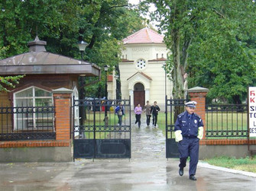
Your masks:
M115 74L119 75L118 61L122 45L120 41L144 27L144 19L141 18L140 11L128 5L127 0L90 1L81 6L84 10L81 22L85 25L79 28L79 39L89 43L86 47L86 60L102 67L102 71L104 65L109 65L108 73L111 74L112 70L115 70ZM86 84L89 84L89 79ZM102 81L86 87L87 92L96 92L94 96L104 97L104 84L105 75L102 75ZM121 92L120 83L118 88Z

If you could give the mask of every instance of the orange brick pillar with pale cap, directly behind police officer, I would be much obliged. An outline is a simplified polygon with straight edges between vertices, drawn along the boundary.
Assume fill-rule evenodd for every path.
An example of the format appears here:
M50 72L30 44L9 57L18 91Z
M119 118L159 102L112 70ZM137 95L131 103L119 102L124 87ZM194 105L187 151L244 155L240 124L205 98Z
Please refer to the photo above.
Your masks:
M206 94L208 93L208 91L209 89L201 87L190 88L188 90L190 100L194 100L197 102L195 112L203 119L203 139L206 138Z

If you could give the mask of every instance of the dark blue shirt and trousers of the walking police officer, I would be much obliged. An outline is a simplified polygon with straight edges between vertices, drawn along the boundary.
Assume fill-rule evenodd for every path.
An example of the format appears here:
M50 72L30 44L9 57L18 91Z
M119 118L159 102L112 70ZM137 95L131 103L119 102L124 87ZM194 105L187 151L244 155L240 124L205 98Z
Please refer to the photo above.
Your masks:
M203 120L193 113L187 111L180 113L175 123L174 131L181 130L183 140L178 142L180 152L180 168L186 167L186 159L190 157L190 175L196 174L196 166L199 159L198 128L203 126Z

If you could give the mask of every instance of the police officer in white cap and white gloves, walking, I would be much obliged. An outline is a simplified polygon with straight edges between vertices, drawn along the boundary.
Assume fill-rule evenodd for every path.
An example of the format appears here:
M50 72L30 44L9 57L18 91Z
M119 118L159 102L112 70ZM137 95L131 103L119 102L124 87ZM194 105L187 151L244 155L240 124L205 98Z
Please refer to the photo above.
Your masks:
M175 123L174 134L180 152L180 176L190 157L190 180L196 180L196 166L199 158L199 139L203 138L203 121L194 113L196 101L185 103L186 111L180 113Z

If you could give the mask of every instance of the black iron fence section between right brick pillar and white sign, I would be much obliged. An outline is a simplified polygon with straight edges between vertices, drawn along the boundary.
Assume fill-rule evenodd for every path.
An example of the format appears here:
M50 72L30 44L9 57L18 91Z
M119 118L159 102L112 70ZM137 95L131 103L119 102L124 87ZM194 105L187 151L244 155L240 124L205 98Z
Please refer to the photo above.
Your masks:
M206 138L247 138L247 104L206 105Z

